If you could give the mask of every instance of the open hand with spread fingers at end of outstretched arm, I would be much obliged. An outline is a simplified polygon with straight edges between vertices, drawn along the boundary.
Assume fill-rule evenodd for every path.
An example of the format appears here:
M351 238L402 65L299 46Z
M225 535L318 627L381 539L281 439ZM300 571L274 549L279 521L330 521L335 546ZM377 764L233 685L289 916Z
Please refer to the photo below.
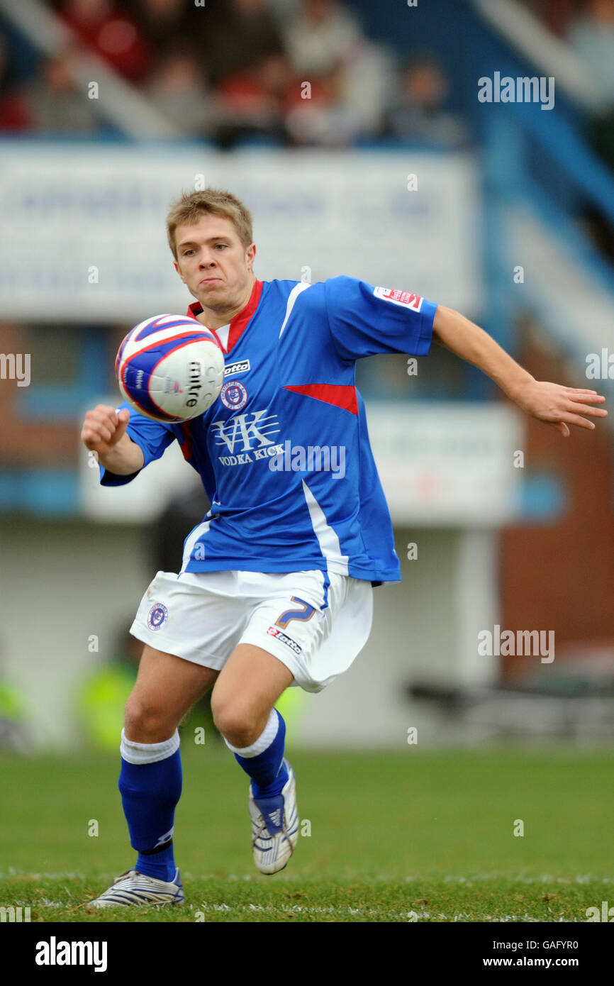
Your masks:
M591 404L602 404L605 396L596 390L583 390L580 387L562 387L560 384L549 384L545 381L530 381L522 388L516 398L516 403L534 418L547 421L561 432L564 438L569 438L569 425L579 428L594 428L594 422L588 421L582 415L605 418L607 411L603 407L591 407Z

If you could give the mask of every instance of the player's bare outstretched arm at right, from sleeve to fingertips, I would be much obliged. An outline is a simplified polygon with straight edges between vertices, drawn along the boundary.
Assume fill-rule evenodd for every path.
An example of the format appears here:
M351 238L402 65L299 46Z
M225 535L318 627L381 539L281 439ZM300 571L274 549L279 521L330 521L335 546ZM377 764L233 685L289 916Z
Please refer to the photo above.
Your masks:
M433 322L433 337L445 349L479 367L505 390L518 407L534 418L554 425L565 438L570 435L568 425L594 428L593 422L582 415L607 417L604 408L590 406L603 403L603 394L596 390L536 381L512 360L488 332L453 309L444 308L443 305L438 307Z

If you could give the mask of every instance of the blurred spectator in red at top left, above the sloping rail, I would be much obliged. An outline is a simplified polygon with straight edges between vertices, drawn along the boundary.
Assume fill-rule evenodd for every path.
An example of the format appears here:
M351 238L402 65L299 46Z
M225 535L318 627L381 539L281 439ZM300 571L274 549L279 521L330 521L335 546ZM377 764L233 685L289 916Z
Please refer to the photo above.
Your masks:
M146 75L150 51L137 24L113 0L64 0L59 14L82 44L131 82Z

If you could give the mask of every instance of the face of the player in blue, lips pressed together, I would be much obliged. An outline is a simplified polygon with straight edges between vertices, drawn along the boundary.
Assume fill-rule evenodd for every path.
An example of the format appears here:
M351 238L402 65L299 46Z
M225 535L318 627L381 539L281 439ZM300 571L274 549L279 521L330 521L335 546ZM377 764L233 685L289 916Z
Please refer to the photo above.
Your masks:
M235 225L223 216L201 216L197 223L174 231L174 267L203 309L237 305L253 283L256 247L245 248Z

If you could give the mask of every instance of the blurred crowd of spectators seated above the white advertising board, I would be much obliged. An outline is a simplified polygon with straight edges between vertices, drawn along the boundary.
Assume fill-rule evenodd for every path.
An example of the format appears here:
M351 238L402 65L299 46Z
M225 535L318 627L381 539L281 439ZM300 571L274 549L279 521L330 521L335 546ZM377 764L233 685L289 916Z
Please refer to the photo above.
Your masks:
M74 40L20 72L0 34L0 130L96 133L101 105L75 81L94 52L188 137L232 147L406 139L464 146L448 81L430 55L399 64L337 0L56 0Z

